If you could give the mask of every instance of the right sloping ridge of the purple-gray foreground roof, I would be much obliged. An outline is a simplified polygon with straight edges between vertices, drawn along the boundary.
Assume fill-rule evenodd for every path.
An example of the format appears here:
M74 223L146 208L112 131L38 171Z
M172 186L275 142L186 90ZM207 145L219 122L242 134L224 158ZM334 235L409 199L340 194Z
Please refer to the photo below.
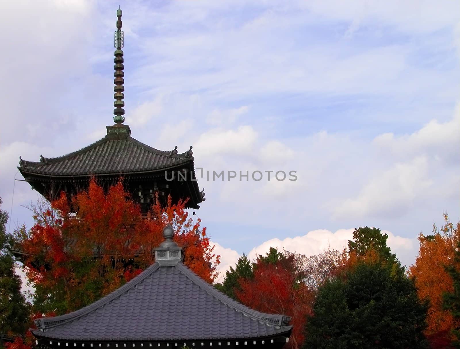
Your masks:
M219 299L222 303L226 304L230 308L235 309L252 318L253 320L263 321L270 326L278 327L292 327L287 326L286 322L290 320L289 316L279 315L279 314L268 314L262 313L257 310L253 310L242 303L237 302L236 300L228 297L224 293L220 292L214 286L208 284L205 280L201 279L196 275L191 269L185 266L183 263L177 263L176 268L178 268L185 276L187 276L193 283L199 286L202 290L209 293L214 298ZM275 320L275 321L274 321Z

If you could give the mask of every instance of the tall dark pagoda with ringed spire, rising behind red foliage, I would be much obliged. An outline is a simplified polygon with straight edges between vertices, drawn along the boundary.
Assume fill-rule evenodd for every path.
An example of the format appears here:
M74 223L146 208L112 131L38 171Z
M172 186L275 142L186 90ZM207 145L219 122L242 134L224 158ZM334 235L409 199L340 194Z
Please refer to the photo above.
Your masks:
M158 197L166 203L171 195L173 203L188 199L186 207L198 209L204 201L204 189L196 182L192 147L179 154L178 147L162 151L131 137L131 129L125 121L123 101L125 95L123 73L123 31L121 9L117 10L115 31L115 87L114 122L107 126L104 138L73 153L55 158L40 155L40 161L19 157L19 172L32 189L47 200L54 200L66 193L69 199L88 187L91 178L108 189L123 179L132 199L137 201L143 213Z

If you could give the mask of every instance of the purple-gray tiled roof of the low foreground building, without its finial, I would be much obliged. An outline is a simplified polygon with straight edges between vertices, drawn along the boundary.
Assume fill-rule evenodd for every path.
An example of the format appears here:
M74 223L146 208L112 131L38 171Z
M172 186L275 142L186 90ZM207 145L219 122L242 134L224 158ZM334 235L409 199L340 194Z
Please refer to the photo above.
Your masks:
M62 316L35 320L38 337L75 341L263 338L288 334L289 318L250 309L184 264L154 263L115 292Z

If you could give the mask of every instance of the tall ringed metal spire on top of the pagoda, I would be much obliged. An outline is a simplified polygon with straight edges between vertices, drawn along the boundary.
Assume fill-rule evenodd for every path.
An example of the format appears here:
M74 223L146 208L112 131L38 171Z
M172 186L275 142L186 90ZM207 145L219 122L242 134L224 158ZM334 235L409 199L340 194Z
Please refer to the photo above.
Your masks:
M123 73L123 51L121 49L123 48L123 31L121 30L121 9L120 6L118 6L118 10L116 10L116 17L118 17L118 20L116 21L116 28L117 30L115 31L115 43L114 46L116 48L115 50L115 87L114 87L114 121L116 124L121 124L125 121L125 117L123 116L125 114L125 109L123 107L125 106L125 102L122 101L122 99L125 98L125 95L123 91L125 91L125 87L123 86L125 80L123 79L123 76L125 74Z

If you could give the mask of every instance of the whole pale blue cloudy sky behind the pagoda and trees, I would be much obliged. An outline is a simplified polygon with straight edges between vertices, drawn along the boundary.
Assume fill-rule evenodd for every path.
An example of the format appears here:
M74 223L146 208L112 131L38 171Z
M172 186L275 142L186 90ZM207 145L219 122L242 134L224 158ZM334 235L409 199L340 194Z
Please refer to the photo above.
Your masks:
M19 155L69 153L113 123L118 5L125 123L158 149L193 145L207 199L197 215L222 270L269 246L341 247L364 225L411 264L420 232L443 212L460 219L458 1L11 0L0 21L10 230L30 225L21 205L37 198L24 182L13 197Z

